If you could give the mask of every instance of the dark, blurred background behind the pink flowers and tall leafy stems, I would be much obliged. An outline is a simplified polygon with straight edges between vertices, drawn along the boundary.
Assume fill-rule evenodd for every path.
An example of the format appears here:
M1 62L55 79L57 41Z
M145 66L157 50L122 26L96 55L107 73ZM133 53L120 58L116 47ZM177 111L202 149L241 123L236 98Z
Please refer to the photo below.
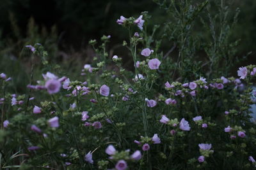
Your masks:
M100 39L103 34L111 35L109 50L129 62L129 55L119 48L127 39L127 31L116 24L120 15L136 18L142 11L148 11L152 16L148 30L154 24L161 28L170 20L166 11L150 0L0 0L0 4L0 72L10 76L30 69L31 53L24 46L35 43L44 45L52 61L63 64L61 66L70 72L80 70L95 55L88 41ZM256 64L256 1L234 0L231 6L234 11L240 9L231 35L232 39L240 39L236 55L242 57L252 52L240 65ZM163 30L159 29L156 38L161 38L161 34ZM162 43L163 53L168 52L172 44L170 41ZM28 80L28 75L20 75L16 81L22 83L24 78Z

